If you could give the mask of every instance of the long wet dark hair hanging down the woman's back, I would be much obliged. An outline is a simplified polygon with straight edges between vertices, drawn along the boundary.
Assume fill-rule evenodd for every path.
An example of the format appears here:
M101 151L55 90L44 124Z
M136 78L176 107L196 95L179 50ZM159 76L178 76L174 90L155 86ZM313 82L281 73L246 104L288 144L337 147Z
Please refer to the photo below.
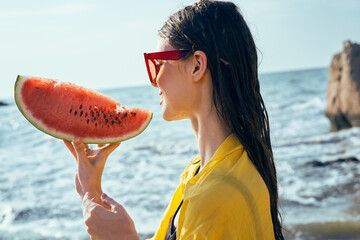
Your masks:
M263 178L270 195L275 239L284 239L257 51L239 9L232 2L202 0L170 16L159 35L176 49L206 54L217 114L239 138Z

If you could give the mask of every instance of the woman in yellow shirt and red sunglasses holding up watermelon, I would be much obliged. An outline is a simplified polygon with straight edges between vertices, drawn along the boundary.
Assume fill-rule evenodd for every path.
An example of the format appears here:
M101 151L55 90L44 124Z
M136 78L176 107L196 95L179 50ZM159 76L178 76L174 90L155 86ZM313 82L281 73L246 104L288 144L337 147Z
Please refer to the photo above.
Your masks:
M200 1L173 14L159 36L159 52L144 54L150 81L165 120L190 119L200 156L181 175L153 239L283 239L257 52L237 7ZM92 238L138 239L126 210L101 190L119 144L65 144L77 159Z

